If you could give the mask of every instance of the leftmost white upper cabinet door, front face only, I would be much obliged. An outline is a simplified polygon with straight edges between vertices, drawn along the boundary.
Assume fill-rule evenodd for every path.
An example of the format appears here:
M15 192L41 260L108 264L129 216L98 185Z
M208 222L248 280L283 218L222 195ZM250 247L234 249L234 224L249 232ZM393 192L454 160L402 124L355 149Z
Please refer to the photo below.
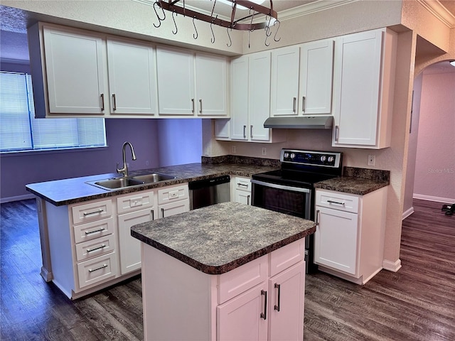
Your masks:
M49 112L103 114L105 41L76 32L43 27Z

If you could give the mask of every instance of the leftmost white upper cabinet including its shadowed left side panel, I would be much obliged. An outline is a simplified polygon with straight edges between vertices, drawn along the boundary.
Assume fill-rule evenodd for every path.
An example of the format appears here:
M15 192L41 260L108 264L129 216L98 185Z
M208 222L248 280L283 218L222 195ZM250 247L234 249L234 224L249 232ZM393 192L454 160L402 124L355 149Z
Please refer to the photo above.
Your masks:
M28 38L36 117L109 113L106 42L100 33L36 23Z

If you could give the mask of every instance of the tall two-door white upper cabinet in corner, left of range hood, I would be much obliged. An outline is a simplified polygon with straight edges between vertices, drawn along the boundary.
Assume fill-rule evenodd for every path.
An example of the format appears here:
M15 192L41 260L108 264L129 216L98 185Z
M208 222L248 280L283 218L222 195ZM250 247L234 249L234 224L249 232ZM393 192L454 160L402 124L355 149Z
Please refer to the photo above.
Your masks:
M231 140L285 141L264 128L270 115L270 53L252 53L231 60Z

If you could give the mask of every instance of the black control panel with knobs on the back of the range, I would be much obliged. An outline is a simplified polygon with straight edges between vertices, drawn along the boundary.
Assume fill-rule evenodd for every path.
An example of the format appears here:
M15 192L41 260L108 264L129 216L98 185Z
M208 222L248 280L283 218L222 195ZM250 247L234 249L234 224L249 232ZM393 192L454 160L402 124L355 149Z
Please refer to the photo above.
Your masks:
M341 153L327 151L301 151L282 149L281 161L308 166L340 167Z

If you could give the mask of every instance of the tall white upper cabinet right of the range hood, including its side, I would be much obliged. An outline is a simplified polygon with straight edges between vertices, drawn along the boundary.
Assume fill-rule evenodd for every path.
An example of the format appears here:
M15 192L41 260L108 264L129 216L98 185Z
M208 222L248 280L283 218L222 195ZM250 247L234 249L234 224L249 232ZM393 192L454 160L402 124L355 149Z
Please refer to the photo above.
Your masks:
M389 29L337 38L333 146L390 146L396 45Z

